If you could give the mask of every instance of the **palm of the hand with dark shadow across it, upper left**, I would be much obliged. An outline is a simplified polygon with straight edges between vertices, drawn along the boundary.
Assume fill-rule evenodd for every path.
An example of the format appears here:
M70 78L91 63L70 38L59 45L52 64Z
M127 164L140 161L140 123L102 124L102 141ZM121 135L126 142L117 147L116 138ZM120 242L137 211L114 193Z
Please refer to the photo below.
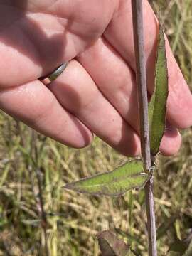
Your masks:
M110 11L105 18L101 14L107 1L97 11L90 0L81 5L70 1L60 8L61 2L16 1L8 6L0 1L1 58L6 59L1 67L1 85L19 85L50 73L63 60L75 58L105 30ZM74 5L76 12L71 10ZM83 15L85 10L95 16ZM13 73L7 70L7 63Z

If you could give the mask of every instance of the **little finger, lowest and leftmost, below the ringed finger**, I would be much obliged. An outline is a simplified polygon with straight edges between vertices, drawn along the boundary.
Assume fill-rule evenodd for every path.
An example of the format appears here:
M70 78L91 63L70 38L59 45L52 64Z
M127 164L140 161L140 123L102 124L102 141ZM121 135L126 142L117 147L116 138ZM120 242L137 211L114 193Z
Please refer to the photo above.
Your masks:
M92 141L92 133L80 120L61 107L48 88L35 80L0 90L0 108L58 142L81 148Z

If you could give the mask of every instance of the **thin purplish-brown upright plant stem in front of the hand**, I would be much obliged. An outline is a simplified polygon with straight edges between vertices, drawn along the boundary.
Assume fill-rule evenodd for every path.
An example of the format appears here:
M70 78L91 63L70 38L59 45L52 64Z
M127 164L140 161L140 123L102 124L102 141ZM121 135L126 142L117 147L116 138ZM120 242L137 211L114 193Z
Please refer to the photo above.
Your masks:
M146 89L146 62L144 55L142 0L132 0L132 20L134 28L134 51L137 71L137 95L139 102L141 148L142 157L144 159L144 169L146 172L149 173L151 169L151 154L149 142L149 120ZM151 178L149 179L145 186L146 213L149 237L149 256L156 256L156 225L152 185L153 177L151 176Z

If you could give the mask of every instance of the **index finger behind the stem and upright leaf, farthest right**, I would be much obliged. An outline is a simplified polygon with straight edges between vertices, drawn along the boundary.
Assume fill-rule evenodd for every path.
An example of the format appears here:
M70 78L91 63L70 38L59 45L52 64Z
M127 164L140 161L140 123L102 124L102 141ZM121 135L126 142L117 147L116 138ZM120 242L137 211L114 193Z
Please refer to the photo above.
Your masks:
M146 74L149 92L154 87L154 64L156 58L156 38L158 24L148 1L144 6L144 35L146 53ZM134 41L132 30L131 1L121 1L119 11L112 18L105 31L105 37L122 55L122 58L135 70ZM186 85L181 70L171 53L169 43L166 41L166 56L169 70L169 97L167 102L167 117L169 122L178 128L189 127L192 124L192 96Z

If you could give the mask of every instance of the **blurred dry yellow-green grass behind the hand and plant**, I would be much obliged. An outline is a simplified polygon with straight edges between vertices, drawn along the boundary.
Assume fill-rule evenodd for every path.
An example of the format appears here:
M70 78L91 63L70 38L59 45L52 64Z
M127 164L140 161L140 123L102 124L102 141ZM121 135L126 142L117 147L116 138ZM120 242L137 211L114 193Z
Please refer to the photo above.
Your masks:
M151 2L157 9L158 1ZM192 1L162 3L164 30L191 86ZM142 191L110 199L61 188L113 169L123 156L97 138L86 149L69 149L3 113L0 129L0 255L46 255L48 250L51 256L97 256L95 235L106 228L121 228L139 255L147 255ZM159 255L168 255L171 243L187 238L192 228L192 129L182 135L181 151L159 157L154 178Z

